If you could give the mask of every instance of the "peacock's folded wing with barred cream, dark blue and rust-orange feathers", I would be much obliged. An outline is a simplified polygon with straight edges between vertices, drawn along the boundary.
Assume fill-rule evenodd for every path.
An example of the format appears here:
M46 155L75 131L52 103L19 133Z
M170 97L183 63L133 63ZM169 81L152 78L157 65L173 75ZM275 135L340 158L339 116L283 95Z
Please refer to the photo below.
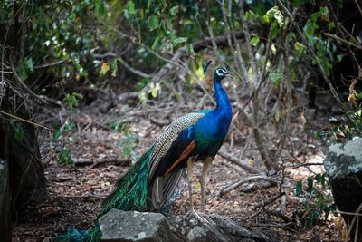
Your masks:
M176 119L155 142L149 169L154 208L161 208L173 195L184 172L176 167L194 150L194 124L204 116L205 111L200 111Z

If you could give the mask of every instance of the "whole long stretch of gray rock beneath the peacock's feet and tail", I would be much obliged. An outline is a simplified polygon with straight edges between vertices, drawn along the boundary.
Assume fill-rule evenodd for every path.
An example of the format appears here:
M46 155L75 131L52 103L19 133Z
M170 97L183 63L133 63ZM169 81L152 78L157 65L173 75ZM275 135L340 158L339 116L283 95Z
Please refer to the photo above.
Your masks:
M273 242L279 241L268 231L243 227L231 218L217 215L200 221L193 214L125 212L111 209L99 218L102 241L189 241L189 242Z

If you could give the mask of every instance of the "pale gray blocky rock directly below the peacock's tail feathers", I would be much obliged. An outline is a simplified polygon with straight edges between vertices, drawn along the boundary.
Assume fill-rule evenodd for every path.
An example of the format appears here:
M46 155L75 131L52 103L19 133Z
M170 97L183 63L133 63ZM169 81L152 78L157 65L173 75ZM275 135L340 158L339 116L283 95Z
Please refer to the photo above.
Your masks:
M175 241L167 219L159 213L111 209L99 218L102 241Z

